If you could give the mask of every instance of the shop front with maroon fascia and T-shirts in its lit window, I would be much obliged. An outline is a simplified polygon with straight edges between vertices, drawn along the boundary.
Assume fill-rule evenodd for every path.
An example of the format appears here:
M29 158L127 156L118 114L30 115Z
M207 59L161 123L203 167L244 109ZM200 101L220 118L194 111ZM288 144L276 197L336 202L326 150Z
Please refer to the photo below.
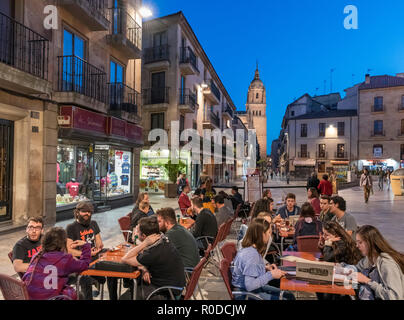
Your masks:
M142 129L71 106L60 108L59 127L58 220L59 216L71 217L82 200L92 201L99 211L133 203L134 153L142 145Z

